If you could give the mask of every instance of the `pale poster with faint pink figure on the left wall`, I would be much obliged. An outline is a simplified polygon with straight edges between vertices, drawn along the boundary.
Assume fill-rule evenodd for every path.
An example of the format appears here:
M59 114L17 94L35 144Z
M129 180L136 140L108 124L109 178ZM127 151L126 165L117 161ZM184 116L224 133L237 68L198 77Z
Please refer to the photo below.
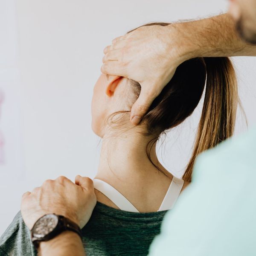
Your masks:
M0 178L24 174L20 76L16 68L0 70Z

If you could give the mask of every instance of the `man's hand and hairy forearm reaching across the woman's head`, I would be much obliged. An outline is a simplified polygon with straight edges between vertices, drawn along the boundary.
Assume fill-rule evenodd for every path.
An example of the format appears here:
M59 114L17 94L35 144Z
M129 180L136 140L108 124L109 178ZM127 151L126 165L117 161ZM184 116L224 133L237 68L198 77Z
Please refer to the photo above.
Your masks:
M247 26L245 22L243 26ZM137 125L183 61L256 55L256 47L242 41L235 28L236 22L229 14L165 27L140 27L105 48L101 70L140 83L140 97L131 109L131 122Z

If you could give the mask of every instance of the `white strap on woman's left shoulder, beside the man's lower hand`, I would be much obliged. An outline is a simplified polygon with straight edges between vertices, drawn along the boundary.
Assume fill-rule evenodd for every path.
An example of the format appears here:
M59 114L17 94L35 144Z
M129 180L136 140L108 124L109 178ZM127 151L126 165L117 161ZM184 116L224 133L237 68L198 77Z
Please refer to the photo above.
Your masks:
M139 212L119 191L103 180L94 179L94 188L102 192L119 209L127 212Z

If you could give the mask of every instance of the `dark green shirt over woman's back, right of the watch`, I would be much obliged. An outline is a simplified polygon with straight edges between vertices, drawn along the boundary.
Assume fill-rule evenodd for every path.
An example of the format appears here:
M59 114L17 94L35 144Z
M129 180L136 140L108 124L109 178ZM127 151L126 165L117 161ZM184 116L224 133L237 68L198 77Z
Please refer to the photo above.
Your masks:
M165 214L166 211L126 212L97 202L90 221L82 229L87 256L148 255Z

